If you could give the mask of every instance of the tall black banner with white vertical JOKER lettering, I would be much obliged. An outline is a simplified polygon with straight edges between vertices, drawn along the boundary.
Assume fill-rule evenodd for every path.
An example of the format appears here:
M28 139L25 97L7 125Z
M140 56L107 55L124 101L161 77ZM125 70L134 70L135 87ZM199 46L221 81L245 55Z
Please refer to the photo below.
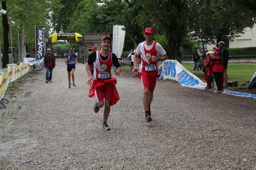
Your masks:
M35 26L36 59L42 62L46 53L46 26Z

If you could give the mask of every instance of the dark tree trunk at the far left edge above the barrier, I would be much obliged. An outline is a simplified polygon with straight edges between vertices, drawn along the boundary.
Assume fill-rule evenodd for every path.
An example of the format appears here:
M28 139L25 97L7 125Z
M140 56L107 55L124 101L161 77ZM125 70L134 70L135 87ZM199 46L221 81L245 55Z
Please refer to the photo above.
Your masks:
M6 10L6 2L2 1L2 8L3 10ZM7 19L7 14L3 14L2 13L2 17L3 17L3 58L2 58L2 62L3 62L3 67L2 68L6 68L6 66L9 63L9 54L8 54L8 50L9 50L9 39L8 39L8 34L9 34L9 24L8 24L8 19Z

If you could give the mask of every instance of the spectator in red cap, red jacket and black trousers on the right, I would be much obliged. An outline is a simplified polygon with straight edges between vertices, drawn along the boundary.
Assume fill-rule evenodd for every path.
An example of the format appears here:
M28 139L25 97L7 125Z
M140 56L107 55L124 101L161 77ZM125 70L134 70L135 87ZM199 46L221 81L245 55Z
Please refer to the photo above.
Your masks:
M223 72L224 72L224 66L223 66L223 57L221 55L221 49L219 47L216 47L214 58L210 59L214 64L212 66L212 72L214 73L214 79L216 81L217 88L214 93L221 93L221 89L223 89Z

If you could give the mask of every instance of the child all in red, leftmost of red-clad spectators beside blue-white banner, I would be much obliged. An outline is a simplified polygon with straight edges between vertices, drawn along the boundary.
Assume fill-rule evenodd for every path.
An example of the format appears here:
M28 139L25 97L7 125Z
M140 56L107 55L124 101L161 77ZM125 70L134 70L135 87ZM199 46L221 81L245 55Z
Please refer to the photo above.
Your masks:
M209 84L210 86L212 86L212 88L209 89L209 91L214 91L215 88L214 88L214 76L213 76L213 72L212 72L212 66L213 66L213 62L210 61L210 59L214 56L214 54L210 54L210 52L207 52L206 53L206 57L207 59L205 59L205 68L208 68L208 72L207 72L207 75L208 75L208 81L209 81Z

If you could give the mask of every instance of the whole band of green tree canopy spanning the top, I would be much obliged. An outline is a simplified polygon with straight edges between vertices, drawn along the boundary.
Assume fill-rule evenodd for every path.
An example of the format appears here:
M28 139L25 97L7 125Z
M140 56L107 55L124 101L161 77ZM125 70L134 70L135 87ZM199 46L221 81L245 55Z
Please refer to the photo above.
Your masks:
M205 43L228 40L230 36L243 33L245 27L253 27L256 15L256 1L253 0L4 2L8 17L12 17L16 26L19 26L22 56L26 54L24 50L26 45L31 47L35 45L35 26L46 25L49 34L80 33L82 35L112 32L112 26L117 24L125 27L124 46L127 49L137 47L144 40L142 35L144 29L153 27L156 33L155 40L161 42L169 58L179 61L182 45L190 45L193 40ZM8 32L7 29L4 30ZM17 27L13 27L13 31L15 31L13 36L17 37Z

